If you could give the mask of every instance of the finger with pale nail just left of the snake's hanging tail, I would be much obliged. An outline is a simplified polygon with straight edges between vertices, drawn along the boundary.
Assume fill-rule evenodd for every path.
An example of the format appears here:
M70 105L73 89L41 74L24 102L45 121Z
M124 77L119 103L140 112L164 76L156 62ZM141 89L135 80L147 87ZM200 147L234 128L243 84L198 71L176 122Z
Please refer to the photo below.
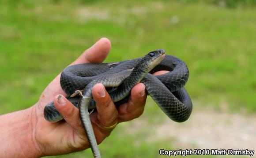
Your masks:
M62 95L57 95L54 98L54 106L63 116L64 120L72 126L77 132L83 132L82 121L79 116L79 110L68 99Z

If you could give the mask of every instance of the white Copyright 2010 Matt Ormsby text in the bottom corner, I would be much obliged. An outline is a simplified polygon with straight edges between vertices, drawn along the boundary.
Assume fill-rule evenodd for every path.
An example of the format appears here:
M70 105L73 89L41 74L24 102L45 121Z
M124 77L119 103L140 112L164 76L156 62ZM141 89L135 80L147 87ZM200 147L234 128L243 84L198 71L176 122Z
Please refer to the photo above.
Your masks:
M160 155L187 156L187 155L248 155L253 156L254 151L248 149L185 149L185 150L159 150Z

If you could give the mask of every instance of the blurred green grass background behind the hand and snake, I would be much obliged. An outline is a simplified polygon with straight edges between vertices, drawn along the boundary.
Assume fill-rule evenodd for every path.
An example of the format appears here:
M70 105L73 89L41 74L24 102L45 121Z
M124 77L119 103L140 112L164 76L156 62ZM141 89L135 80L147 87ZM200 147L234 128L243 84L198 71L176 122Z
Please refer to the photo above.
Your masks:
M101 37L105 62L163 48L187 63L195 107L256 112L256 0L0 0L0 114L37 102L50 81ZM12 95L15 95L15 99ZM196 104L195 104L196 103ZM165 116L149 98L140 119ZM135 120L136 121L136 120ZM109 158L155 158L171 140L148 142L150 129L124 123L101 145ZM179 147L181 148L181 147ZM90 157L90 150L60 156Z

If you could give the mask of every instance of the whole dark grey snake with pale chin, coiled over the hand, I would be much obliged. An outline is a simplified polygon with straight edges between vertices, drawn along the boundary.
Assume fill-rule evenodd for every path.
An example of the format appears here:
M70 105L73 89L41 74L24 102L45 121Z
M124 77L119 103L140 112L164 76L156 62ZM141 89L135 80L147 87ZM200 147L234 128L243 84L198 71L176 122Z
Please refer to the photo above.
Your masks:
M152 75L160 70L169 72ZM67 98L79 108L94 157L100 158L89 117L89 111L96 108L91 94L94 85L102 83L115 105L119 106L128 101L132 87L142 82L147 94L170 119L183 122L192 112L192 101L184 88L188 76L188 67L181 59L166 55L165 50L158 49L133 60L69 66L61 73L60 85L68 94ZM83 90L80 96L70 97L77 90ZM44 116L51 122L63 119L53 102L45 106Z

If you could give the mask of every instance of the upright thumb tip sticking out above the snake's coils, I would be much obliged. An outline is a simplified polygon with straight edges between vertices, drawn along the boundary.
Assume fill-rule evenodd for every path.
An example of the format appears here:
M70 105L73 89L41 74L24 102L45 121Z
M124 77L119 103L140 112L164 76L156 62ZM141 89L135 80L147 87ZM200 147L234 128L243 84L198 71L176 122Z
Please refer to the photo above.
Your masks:
M93 46L91 46L89 49L84 51L83 54L80 55L75 60L75 62L73 62L71 65L80 64L80 63L103 62L103 60L108 55L110 49L111 49L110 40L107 38L101 38Z

